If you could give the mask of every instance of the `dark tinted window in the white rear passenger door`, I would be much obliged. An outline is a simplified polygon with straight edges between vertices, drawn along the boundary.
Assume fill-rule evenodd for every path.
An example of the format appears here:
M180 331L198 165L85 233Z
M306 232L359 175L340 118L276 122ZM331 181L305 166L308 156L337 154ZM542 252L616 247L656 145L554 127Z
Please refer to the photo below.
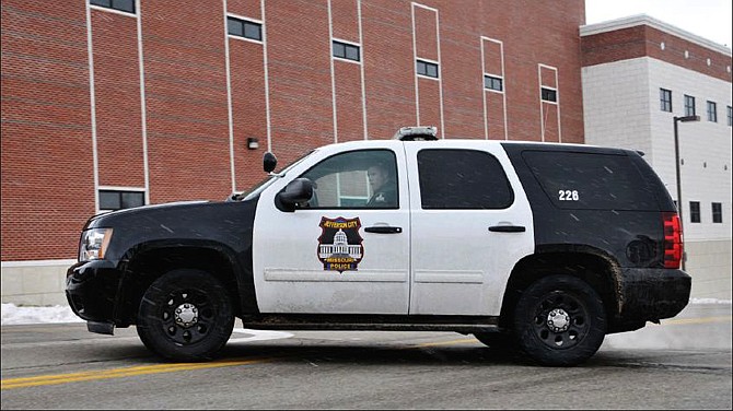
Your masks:
M505 209L514 192L499 161L476 150L418 153L422 209Z

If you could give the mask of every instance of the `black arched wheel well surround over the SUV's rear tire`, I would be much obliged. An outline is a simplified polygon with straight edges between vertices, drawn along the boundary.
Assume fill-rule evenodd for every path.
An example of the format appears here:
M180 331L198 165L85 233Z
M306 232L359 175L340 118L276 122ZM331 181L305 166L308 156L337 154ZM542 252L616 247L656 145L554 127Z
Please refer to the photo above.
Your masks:
M499 326L511 328L514 307L530 284L550 274L567 274L585 281L603 301L608 322L618 313L618 273L615 265L604 256L585 253L535 254L520 260L507 283L501 304Z

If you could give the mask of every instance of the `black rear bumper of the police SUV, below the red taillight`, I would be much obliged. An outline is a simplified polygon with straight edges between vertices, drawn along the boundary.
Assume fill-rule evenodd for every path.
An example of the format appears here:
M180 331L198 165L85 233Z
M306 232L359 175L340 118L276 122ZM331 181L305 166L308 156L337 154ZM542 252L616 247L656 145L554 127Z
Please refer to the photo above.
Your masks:
M689 303L691 285L693 279L682 270L623 269L620 321L636 326L621 328L676 316Z

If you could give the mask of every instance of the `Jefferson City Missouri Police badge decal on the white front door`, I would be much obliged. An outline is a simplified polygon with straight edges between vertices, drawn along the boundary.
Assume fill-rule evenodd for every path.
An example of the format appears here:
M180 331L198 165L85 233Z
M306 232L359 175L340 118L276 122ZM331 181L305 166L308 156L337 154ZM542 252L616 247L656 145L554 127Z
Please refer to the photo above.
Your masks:
M321 218L322 228L318 237L318 260L326 271L357 271L364 256L363 238L359 234L359 218Z

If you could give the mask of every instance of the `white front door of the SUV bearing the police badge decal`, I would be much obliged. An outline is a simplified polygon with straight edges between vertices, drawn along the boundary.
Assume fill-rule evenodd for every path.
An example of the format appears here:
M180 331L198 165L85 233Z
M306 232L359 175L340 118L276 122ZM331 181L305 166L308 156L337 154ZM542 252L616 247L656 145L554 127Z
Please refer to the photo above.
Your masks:
M317 154L315 165L291 171L257 204L253 268L260 313L407 314L410 226L407 176L397 173L405 169L402 143ZM366 204L374 162L394 173L396 203ZM276 196L298 177L314 183L314 196L294 212L279 210Z

